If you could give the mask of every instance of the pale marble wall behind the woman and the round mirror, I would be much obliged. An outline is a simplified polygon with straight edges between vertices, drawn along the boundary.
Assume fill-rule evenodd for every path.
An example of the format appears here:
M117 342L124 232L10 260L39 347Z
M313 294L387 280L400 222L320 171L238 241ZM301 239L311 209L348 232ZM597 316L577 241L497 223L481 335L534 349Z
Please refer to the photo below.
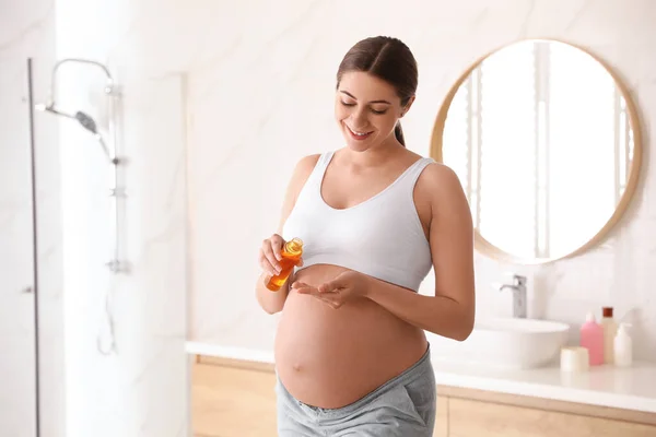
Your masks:
M271 350L278 317L260 310L254 297L257 249L276 229L294 163L341 146L332 119L335 72L353 43L387 34L414 51L420 87L403 129L409 147L427 154L437 109L470 63L517 39L552 37L587 47L626 83L642 115L644 175L625 218L588 253L536 268L477 255L477 311L509 315L511 296L490 284L504 272L522 272L532 284L529 316L576 326L588 310L613 305L635 323L636 357L656 359L656 273L649 268L656 261L656 177L649 173L656 157L648 153L656 120L656 3L200 4L201 32L188 63L190 339ZM432 291L429 279L422 293Z

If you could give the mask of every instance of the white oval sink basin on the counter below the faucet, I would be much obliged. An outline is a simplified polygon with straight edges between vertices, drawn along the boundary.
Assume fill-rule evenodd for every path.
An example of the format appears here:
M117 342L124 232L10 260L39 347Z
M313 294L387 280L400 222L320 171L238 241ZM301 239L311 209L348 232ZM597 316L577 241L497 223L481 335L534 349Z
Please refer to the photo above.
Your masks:
M555 321L488 318L477 320L464 342L427 335L433 359L527 369L555 363L567 342L569 330L569 324Z

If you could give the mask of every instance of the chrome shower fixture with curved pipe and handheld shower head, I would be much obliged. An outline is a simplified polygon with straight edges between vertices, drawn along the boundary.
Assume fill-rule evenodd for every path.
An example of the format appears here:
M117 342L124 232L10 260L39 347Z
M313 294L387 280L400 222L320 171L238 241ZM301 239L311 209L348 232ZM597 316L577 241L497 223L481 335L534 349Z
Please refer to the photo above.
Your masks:
M103 92L105 95L109 97L109 111L108 111L108 127L107 127L107 138L101 132L98 125L96 121L86 113L82 110L69 111L63 110L61 107L57 105L57 73L61 66L65 63L81 63L83 66L94 67L96 69L102 70L105 76L105 86ZM81 59L81 58L66 58L57 61L52 71L50 73L50 90L48 94L48 99L45 104L35 105L35 109L51 113L57 116L61 116L65 118L70 118L71 120L75 120L82 128L89 131L95 140L101 145L105 157L108 163L112 165L112 178L109 181L109 197L110 197L110 209L112 209L112 237L114 240L114 248L112 259L106 263L109 270L113 273L127 273L128 264L125 261L120 260L120 240L119 240L119 225L121 218L121 209L119 208L118 198L125 198L125 186L122 184L122 167L125 164L125 160L122 160L117 154L117 120L116 120L116 109L117 109L117 101L119 97L119 93L117 86L114 82L114 78L109 73L107 67L103 63L90 60L90 59Z

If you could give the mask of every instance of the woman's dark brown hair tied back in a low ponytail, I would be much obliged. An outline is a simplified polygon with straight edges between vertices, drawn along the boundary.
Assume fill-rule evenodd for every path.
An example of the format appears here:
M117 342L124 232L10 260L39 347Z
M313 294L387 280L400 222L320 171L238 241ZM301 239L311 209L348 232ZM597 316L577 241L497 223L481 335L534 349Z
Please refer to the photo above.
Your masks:
M363 71L391 84L401 98L401 106L417 92L417 61L408 46L397 38L374 36L351 47L337 70L338 87L342 75L350 71ZM406 145L400 122L394 128L394 134Z

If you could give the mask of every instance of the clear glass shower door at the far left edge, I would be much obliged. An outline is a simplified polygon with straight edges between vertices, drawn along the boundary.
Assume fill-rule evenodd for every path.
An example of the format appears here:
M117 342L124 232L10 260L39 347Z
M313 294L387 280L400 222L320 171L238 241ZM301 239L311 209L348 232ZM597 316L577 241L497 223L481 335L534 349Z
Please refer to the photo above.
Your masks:
M0 57L0 436L37 435L27 60Z

